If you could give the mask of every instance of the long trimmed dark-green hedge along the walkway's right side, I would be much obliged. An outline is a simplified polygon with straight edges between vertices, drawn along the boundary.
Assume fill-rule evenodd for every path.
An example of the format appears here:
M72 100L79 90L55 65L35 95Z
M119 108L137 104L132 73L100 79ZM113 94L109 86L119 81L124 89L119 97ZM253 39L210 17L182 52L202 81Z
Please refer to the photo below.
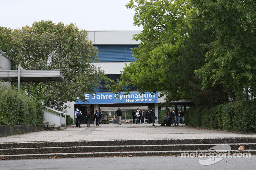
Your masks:
M256 103L236 101L218 106L191 107L186 111L186 125L206 129L256 132Z

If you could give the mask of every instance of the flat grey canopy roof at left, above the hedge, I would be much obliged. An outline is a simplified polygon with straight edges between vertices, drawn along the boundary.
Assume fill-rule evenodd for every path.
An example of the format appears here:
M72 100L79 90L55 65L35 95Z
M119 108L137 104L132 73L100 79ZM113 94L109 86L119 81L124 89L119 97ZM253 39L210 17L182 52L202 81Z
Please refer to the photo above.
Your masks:
M4 82L18 82L18 70L0 70L0 78ZM60 70L20 70L21 82L53 82L64 81Z

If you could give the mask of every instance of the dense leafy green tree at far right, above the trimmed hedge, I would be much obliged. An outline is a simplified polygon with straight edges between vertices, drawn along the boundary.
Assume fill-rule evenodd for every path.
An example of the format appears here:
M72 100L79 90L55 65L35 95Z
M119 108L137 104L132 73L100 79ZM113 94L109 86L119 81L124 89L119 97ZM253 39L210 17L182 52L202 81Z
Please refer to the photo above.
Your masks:
M227 93L255 96L256 87L256 2L193 1L205 22L205 30L213 29L216 40L206 54L206 64L196 74L203 88L223 85ZM233 99L235 99L235 96ZM239 95L238 95L239 96Z

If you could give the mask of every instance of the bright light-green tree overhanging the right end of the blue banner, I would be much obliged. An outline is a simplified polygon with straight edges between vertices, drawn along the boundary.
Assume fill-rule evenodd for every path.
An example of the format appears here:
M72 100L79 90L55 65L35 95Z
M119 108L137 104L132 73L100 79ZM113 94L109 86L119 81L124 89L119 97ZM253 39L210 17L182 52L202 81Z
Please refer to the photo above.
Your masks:
M180 56L179 44L187 33L189 2L182 0L131 0L127 8L135 9L134 25L143 30L134 39L141 41L133 54L138 60L124 68L122 80L111 84L112 92L134 85L140 92L174 93ZM181 98L183 92L175 91ZM173 98L173 100L176 100Z

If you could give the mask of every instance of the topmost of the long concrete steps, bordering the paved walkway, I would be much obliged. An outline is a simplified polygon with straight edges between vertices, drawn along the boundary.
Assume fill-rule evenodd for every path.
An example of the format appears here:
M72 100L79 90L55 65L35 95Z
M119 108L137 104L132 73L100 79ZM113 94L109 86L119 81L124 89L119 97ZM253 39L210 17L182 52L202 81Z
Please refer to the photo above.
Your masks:
M120 146L120 145L166 145L166 144L256 144L256 138L196 138L196 139L159 139L159 140L101 140L69 142L16 142L0 143L0 149L42 148L67 146Z

